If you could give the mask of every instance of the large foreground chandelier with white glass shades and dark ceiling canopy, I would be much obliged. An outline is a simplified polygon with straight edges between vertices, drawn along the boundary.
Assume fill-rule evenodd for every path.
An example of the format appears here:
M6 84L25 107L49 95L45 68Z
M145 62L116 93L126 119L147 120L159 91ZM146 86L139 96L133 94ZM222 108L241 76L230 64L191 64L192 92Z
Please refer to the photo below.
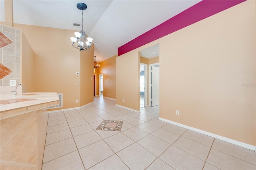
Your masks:
M86 10L87 5L84 3L78 3L76 7L79 10L82 10L82 30L80 32L75 32L75 37L70 37L70 40L72 41L72 46L78 48L80 51L89 50L92 46L92 38L88 37L86 38L86 34L84 32L83 27L83 10ZM87 40L87 41L86 41Z

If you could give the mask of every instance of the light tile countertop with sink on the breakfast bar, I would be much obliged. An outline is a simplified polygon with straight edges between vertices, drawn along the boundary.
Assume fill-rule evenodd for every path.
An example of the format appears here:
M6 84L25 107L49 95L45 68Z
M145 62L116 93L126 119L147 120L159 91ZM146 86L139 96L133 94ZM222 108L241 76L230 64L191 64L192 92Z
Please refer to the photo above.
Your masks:
M0 119L58 105L57 93L20 93L0 95Z

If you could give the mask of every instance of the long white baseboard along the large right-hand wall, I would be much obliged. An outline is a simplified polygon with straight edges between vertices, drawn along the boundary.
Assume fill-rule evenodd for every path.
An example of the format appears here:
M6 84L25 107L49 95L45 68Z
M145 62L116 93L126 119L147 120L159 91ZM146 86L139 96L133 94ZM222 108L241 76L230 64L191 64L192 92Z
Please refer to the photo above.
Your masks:
M195 132L199 132L199 133L202 133L202 134L205 134L205 135L214 137L214 138L216 138L216 139L220 139L220 140L223 140L223 141L225 141L225 142L229 142L229 143L232 143L232 144L241 146L241 147L243 147L243 148L247 148L247 149L250 149L250 150L254 150L254 151L255 151L255 146L250 145L250 144L246 144L246 143L244 143L244 142L239 142L239 141L237 141L237 140L233 140L233 139L230 139L230 138L226 138L226 137L220 136L220 135L218 135L218 134L206 132L206 131L204 131L204 130L200 130L200 129L198 129L198 128L193 128L193 127L190 127L190 126L187 126L187 125L183 125L183 124L180 124L180 123L177 123L177 122L173 122L173 121L170 121L170 120L167 120L167 119L164 119L164 118L160 118L160 117L159 117L159 120L160 120L160 121L167 122L167 123L171 123L171 124L173 124L173 125L177 125L177 126L179 126L179 127L187 128L187 129L189 129L189 130L193 130L193 131L195 131Z

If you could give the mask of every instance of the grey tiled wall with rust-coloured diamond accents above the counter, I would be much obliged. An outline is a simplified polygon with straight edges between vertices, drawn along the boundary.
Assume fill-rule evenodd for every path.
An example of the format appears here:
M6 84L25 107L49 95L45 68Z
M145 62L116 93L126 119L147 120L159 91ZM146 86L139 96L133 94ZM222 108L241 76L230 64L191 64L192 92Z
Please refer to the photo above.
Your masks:
M10 85L10 80L16 80L16 85L21 82L20 80L20 35L21 30L0 25L0 63L1 63L1 93L4 93L5 89L15 90ZM6 68L7 67L7 68ZM8 70L10 69L10 70ZM5 76L5 75L6 76ZM3 77L3 78L2 78ZM17 90L20 91L21 87ZM10 93L10 92L9 92Z

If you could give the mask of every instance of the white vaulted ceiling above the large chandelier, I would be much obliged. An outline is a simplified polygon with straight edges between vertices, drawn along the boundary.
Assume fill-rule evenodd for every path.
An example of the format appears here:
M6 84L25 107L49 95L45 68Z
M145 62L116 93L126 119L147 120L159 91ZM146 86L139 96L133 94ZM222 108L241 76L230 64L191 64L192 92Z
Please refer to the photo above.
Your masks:
M88 7L83 15L84 31L94 39L94 55L100 62L116 55L118 47L200 1L13 0L13 16L17 24L80 31L82 26L73 26L82 24L82 12L76 4L85 3ZM0 0L0 10L0 21L4 22L4 0Z

